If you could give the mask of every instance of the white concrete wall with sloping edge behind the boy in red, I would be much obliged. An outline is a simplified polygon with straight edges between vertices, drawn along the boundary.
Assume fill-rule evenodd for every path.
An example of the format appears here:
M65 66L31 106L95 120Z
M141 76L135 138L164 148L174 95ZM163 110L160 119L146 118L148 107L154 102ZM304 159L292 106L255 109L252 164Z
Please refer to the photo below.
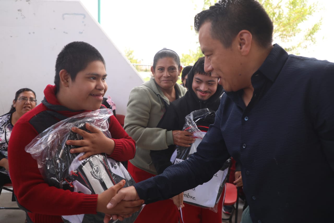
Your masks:
M53 84L58 53L72 41L87 42L104 57L105 96L112 97L117 114L125 115L131 89L143 83L79 0L1 0L0 30L0 115L20 88L31 88L41 102L45 86Z

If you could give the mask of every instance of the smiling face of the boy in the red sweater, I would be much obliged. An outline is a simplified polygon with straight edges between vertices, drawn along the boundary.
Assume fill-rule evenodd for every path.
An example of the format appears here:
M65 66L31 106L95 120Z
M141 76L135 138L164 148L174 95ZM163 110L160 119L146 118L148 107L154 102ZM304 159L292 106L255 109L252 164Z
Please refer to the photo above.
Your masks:
M102 61L93 61L79 71L75 80L68 78L65 105L72 110L96 110L101 106L103 96L108 89L106 69Z

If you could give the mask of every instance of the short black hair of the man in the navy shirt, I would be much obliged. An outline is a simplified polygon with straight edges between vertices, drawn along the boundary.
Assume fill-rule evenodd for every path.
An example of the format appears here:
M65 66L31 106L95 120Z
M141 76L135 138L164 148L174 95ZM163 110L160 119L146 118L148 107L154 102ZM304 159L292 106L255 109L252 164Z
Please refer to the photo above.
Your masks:
M257 0L220 0L209 9L196 14L194 26L198 32L205 22L211 22L211 36L225 48L243 29L252 33L257 43L267 48L273 42L273 22Z

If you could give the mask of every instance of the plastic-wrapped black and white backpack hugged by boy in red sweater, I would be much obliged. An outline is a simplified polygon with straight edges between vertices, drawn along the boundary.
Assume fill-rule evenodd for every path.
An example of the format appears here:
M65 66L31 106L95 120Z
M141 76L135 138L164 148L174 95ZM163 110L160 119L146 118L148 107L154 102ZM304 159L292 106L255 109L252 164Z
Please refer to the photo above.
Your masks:
M125 187L135 184L121 162L106 154L92 155L80 161L78 158L83 153L71 154L69 151L74 146L66 145L67 140L82 139L79 134L70 130L72 127L89 132L85 128L86 123L111 138L108 130L108 119L111 115L111 109L99 109L67 118L43 131L26 146L25 151L37 160L38 168L50 186L84 194L100 194L122 179L126 181ZM109 223L134 222L140 211L123 221L111 220ZM62 216L62 219L66 223L103 222L104 213L68 215Z

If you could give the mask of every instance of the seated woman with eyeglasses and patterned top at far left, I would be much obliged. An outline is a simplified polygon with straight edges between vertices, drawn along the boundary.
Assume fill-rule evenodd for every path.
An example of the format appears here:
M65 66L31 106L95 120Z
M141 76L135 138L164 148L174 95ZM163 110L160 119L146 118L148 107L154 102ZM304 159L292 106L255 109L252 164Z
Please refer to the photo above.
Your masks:
M29 88L21 88L15 93L10 111L0 116L0 187L11 182L7 155L10 133L17 120L34 107L36 107L35 92Z

